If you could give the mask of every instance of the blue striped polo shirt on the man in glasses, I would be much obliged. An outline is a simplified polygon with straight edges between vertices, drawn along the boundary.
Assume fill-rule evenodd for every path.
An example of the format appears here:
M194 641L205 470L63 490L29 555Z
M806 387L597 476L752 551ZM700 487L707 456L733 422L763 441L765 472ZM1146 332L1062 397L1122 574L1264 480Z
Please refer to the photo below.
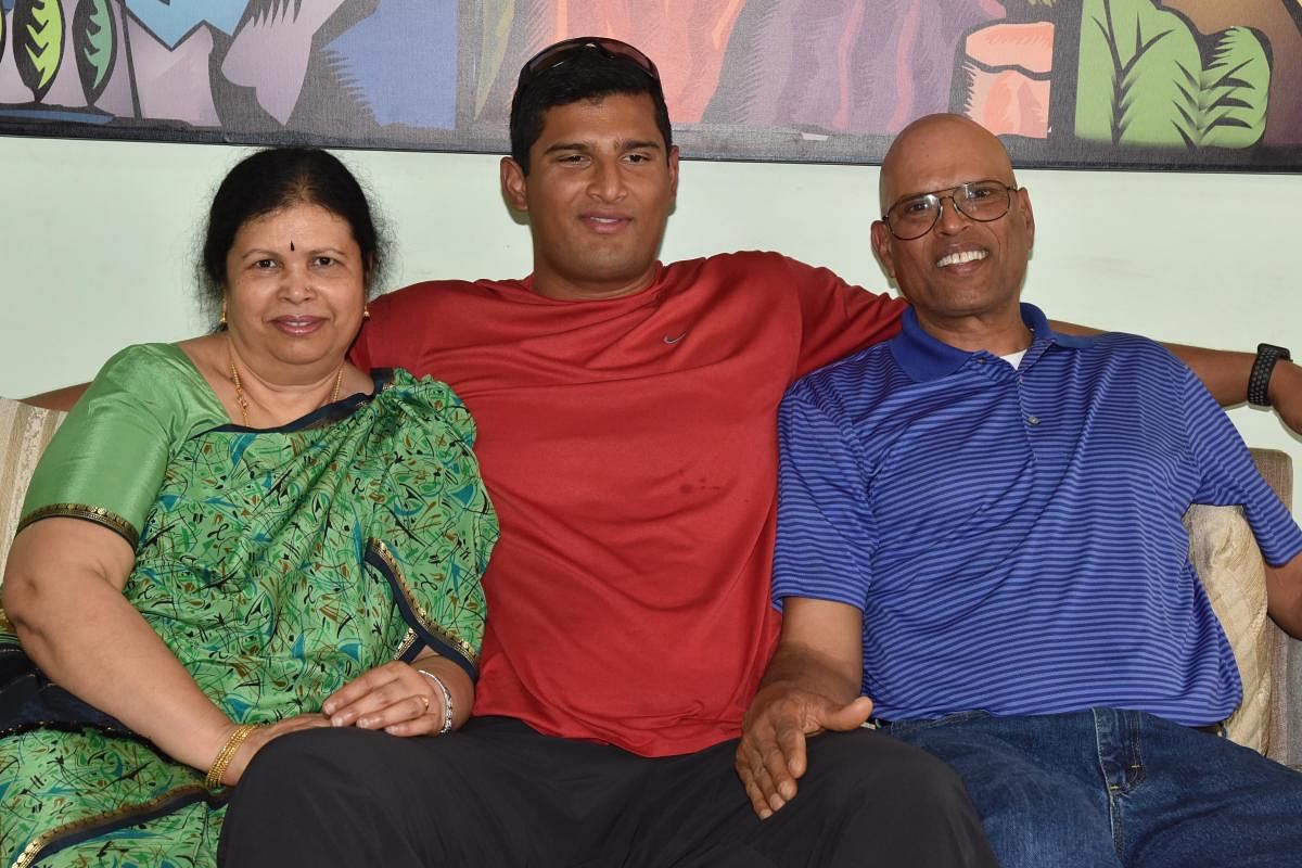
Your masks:
M941 344L910 310L896 338L792 387L775 601L863 612L863 692L885 720L1223 720L1242 687L1181 515L1242 504L1273 565L1302 531L1161 346L1022 318L1017 368Z

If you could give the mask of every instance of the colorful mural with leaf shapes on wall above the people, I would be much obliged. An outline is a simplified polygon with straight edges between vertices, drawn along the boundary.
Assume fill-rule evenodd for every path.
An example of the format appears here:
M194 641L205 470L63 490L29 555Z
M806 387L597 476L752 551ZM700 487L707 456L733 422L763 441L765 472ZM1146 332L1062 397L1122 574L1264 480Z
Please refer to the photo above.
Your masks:
M875 163L961 111L1026 165L1302 169L1302 0L0 0L0 134L505 150L612 35L686 156Z

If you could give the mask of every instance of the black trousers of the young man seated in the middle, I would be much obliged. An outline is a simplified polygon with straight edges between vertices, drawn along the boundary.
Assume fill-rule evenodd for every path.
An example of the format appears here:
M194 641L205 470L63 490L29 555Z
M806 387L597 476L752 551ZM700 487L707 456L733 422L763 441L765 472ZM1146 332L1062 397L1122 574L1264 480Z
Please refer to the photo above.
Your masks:
M314 729L234 789L219 863L285 865L995 865L962 782L872 730L810 742L799 793L760 821L737 742L647 759L471 720L441 738Z

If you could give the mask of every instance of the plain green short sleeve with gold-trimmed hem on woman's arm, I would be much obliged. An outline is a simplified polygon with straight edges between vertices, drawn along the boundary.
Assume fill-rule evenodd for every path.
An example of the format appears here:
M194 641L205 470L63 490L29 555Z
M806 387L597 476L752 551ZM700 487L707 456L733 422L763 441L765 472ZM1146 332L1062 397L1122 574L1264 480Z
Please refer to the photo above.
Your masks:
M42 455L18 532L43 518L81 518L134 549L171 446L186 436L184 396L197 377L171 345L129 346L111 358Z

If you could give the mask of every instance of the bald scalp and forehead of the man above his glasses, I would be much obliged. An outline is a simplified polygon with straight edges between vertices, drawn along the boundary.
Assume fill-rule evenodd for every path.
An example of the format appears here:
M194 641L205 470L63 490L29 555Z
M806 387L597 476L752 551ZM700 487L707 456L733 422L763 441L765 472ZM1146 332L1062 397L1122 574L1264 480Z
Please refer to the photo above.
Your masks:
M905 195L984 178L1017 186L1004 144L962 115L927 115L904 128L881 160L881 212Z

